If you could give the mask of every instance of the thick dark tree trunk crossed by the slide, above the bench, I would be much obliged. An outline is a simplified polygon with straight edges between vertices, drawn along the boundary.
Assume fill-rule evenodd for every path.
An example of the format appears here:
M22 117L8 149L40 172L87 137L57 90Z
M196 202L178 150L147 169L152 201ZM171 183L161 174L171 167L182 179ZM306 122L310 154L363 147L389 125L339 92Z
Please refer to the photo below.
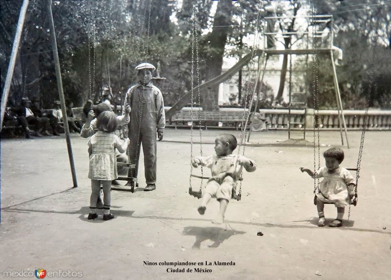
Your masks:
M205 81L209 81L221 74L223 56L229 25L233 13L232 1L219 1L213 22L212 33L209 34L210 53L206 59ZM202 108L218 111L218 85L205 90L203 93Z

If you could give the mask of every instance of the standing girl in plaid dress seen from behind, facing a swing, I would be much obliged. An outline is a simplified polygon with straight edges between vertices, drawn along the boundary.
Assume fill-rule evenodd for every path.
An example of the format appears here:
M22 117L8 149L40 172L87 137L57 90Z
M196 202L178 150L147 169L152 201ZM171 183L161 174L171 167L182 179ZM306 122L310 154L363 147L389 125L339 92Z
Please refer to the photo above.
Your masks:
M100 192L100 185L103 186L103 210L104 220L114 218L110 214L110 190L111 181L118 178L117 160L115 158L115 149L125 152L129 145L129 138L122 141L114 131L117 129L118 122L116 115L112 111L102 112L96 122L98 131L91 136L88 141L89 153L89 172L88 178L91 179L91 197L90 212L88 219L95 219L96 202Z

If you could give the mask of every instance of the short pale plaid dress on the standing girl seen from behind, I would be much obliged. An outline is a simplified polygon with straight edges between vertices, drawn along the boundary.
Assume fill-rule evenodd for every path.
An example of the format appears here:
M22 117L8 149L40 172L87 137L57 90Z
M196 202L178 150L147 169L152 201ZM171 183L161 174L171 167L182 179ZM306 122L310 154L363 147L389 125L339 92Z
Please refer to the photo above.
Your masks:
M92 180L115 180L118 178L115 148L122 140L114 132L97 131L88 141L92 153L89 156L88 178Z

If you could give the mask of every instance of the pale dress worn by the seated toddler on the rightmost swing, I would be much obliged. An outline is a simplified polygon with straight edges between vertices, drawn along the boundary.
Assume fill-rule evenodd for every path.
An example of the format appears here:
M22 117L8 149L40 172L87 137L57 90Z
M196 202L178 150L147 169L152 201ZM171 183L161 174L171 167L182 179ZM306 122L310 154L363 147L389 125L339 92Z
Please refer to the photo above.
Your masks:
M356 184L351 173L342 167L333 172L328 172L326 167L321 167L315 172L315 178L324 177L316 189L316 196L323 202L333 203L335 207L345 207L350 204L348 185Z

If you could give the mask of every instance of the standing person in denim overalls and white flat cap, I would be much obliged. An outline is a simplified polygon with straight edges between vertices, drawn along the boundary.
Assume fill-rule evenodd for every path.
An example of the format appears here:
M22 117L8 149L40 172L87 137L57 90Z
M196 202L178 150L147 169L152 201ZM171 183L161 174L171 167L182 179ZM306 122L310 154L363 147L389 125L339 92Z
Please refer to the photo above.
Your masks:
M129 177L137 177L141 144L144 152L145 180L144 191L156 189L156 132L159 141L163 140L166 116L163 95L160 89L152 85L152 73L155 66L149 63L137 65L138 83L128 90L124 108L130 105L129 122L129 158L130 164L136 164L129 170Z

